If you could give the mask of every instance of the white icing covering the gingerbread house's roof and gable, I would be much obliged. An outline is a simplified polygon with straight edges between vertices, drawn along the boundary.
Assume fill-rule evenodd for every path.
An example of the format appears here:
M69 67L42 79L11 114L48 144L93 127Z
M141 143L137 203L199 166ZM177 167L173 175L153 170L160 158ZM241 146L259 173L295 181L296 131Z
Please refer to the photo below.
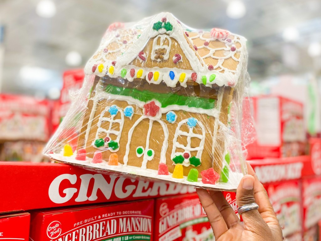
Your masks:
M153 24L155 22L160 21L160 19L163 16L165 16L167 18L167 21L173 25L172 31L166 31L163 28L160 29L159 31L155 31L152 29ZM149 22L149 24L146 24L147 22ZM245 43L246 40L245 40L245 38L243 38L239 35L233 34L234 39L232 40L231 43L226 40L219 40L225 44L225 47L221 47L221 48L217 48L217 49L212 49L211 47L209 47L209 46L212 46L211 44L208 46L204 46L204 45L197 46L197 48L199 48L199 49L206 48L209 50L209 53L207 55L205 55L201 59L199 59L200 58L199 54L194 49L192 49L190 47L190 44L187 42L187 40L192 45L194 45L193 39L195 39L195 38L200 38L201 40L206 40L206 41L215 41L217 39L215 39L214 37L210 37L209 39L204 38L203 35L205 32L204 33L197 32L196 36L185 38L185 36L186 36L185 31L186 30L182 28L181 24L178 24L178 22L176 21L176 19L174 18L174 16L172 14L170 14L170 13L157 14L153 17L150 17L149 19L143 20L142 22L133 26L133 28L137 27L137 26L140 26L140 28L141 28L141 36L138 38L138 32L136 32L136 29L134 29L136 32L136 35L135 34L130 35L131 39L126 44L129 47L128 48L122 47L123 48L122 50L117 49L117 52L119 52L119 51L123 51L123 52L121 52L122 53L121 55L120 54L117 55L118 57L116 59L113 59L117 63L114 67L114 72L112 74L110 74L108 71L107 74L109 76L120 76L121 70L123 68L125 68L127 70L127 74L124 78L127 79L128 81L133 81L133 79L136 78L137 70L139 70L140 68L130 65L130 63L135 58L137 58L139 52L144 49L144 47L146 46L146 43L151 38L153 38L155 36L159 36L159 38L166 38L165 36L169 35L170 38L175 39L178 42L180 48L183 50L185 57L187 58L187 60L190 63L193 70L182 70L182 69L175 69L175 68L158 68L158 67L147 68L147 67L143 67L141 69L143 70L144 74L140 78L145 78L149 72L154 73L155 71L158 71L160 74L159 79L157 81L153 81L153 80L148 81L149 83L159 84L161 81L164 81L166 83L166 85L168 85L169 87L174 87L174 86L176 86L177 83L179 83L183 87L187 87L187 85L186 85L187 79L191 79L192 73L195 72L197 74L196 82L201 85L203 85L202 76L206 76L207 81L206 81L205 85L209 86L209 87L211 87L213 84L217 84L219 86L230 86L231 83L234 83L233 86L237 84L239 75L240 75L241 70L243 68L242 61L243 61L243 58L246 53L246 43ZM130 30L131 29L129 29L128 31L130 31ZM193 31L193 32L196 32L196 31ZM164 33L166 33L168 35L165 35ZM209 33L209 32L206 32L206 33ZM126 34L124 34L124 35L127 36ZM163 36L163 37L161 37L161 36ZM110 36L110 38L106 38L103 41L103 43L101 44L99 51L101 51L104 48L104 46L107 46L109 43L112 43L115 41L116 40L115 40L114 36ZM241 47L239 49L236 49L235 51L231 51L231 49L230 49L231 46L235 45L236 43L240 43ZM117 44L118 44L118 42L117 42ZM124 44L120 42L119 45L123 46ZM153 46L156 48L155 45L156 45L156 43L154 44L154 42L153 42ZM165 46L165 48L168 48L168 47ZM155 49L153 49L153 51L154 50ZM223 57L215 56L214 55L215 51L219 51L219 50L225 50L227 54ZM114 50L114 51L116 51L116 50ZM168 54L168 53L169 53L169 51L166 52L166 54ZM236 53L240 53L239 58L237 58L235 56ZM113 60L106 59L104 54L101 54L100 57L101 58L98 57L95 59L91 58L88 61L88 63L86 64L86 67L85 67L86 74L92 74L92 66L94 64L99 65L101 63L100 59L103 59L104 60L103 61L103 65L104 65L103 71L99 72L98 67L97 67L97 69L94 71L94 74L101 76L101 77L105 75L107 69L112 65L111 62ZM155 55L152 54L151 58L154 58L154 57L155 57ZM218 60L218 63L216 66L214 66L213 70L209 70L203 60L204 58L208 58L208 57ZM224 60L227 58L232 58L233 60L239 62L236 70L230 70L226 67L223 67ZM132 68L135 69L135 76L134 77L130 76L130 69L132 69ZM218 70L216 70L215 68L218 68ZM223 73L223 70L224 70L224 73ZM171 80L169 78L169 71L175 72L174 80ZM186 74L186 78L183 82L180 82L179 76L182 73ZM212 82L209 82L209 78L212 74L215 74L216 77ZM146 79L148 79L148 78L146 77Z

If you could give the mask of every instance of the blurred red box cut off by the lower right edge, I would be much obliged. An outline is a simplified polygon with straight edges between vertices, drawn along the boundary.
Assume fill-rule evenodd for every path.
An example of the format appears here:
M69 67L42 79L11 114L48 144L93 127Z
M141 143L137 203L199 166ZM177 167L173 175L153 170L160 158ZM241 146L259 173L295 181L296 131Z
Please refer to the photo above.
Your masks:
M303 228L307 231L321 219L321 177L302 179Z

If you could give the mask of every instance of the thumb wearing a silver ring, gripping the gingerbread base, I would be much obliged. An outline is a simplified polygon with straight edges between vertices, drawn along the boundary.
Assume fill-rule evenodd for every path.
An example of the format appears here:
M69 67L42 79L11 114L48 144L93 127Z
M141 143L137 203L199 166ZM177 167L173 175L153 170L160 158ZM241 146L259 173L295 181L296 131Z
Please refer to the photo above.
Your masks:
M254 199L254 177L252 175L245 175L241 179L236 191L236 201L239 208L256 202ZM257 209L243 212L241 215L246 230L260 233L268 228Z

